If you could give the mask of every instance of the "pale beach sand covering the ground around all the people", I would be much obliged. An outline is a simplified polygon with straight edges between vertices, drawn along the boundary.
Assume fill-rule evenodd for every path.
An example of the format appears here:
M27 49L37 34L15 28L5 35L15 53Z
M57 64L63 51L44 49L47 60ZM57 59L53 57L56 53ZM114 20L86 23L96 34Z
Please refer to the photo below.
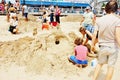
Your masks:
M24 22L19 15L19 34L8 32L9 23L0 16L0 80L92 80L94 67L80 68L68 61L74 55L73 41L81 37L78 29L81 16L61 18L59 29L41 30L41 20L29 15ZM37 34L34 34L34 30ZM59 44L55 41L59 40ZM119 80L120 55L112 80ZM104 80L106 65L98 80Z

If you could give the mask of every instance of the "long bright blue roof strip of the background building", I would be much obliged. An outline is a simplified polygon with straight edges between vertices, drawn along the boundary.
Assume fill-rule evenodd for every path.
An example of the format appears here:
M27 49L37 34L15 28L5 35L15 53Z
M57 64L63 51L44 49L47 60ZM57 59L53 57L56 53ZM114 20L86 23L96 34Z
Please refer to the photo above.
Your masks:
M84 2L82 2L84 1ZM87 1L87 2L85 2ZM50 6L58 5L60 7L86 7L89 6L89 0L20 0L21 4L27 4L30 6Z

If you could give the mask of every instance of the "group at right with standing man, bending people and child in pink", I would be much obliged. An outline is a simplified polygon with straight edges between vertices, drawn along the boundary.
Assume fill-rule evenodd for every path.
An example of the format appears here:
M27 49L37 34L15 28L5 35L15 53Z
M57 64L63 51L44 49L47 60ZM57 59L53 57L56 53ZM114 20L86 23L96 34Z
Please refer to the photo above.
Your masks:
M75 54L70 56L69 60L77 65L87 65L86 56L89 52L94 52L95 44L98 43L100 48L97 53L98 64L92 80L97 80L104 64L108 64L105 80L112 80L120 46L120 17L116 15L117 10L117 2L111 0L105 6L106 14L101 18L96 20L89 7L86 8L86 12L83 15L82 27L80 27L79 31L83 34L83 37L86 35L86 40L85 42L81 38L75 40ZM88 40L92 41L91 47L86 46Z

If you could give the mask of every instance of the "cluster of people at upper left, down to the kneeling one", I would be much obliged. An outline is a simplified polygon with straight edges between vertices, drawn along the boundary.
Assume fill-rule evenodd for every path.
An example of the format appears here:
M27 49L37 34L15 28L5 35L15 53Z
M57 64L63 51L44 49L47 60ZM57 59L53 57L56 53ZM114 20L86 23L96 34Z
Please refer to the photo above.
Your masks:
M7 15L7 21L10 23L9 30L11 33L16 34L18 32L18 17L17 14L20 10L20 3L16 0L14 4L10 1L6 3L4 0L1 2L3 6L3 14Z

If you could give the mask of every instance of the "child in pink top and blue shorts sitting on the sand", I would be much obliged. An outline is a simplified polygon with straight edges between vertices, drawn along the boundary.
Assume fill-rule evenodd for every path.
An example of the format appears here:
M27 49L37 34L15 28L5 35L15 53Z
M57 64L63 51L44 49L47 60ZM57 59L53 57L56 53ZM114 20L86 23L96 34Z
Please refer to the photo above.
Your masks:
M84 45L82 45L83 40L81 38L76 38L74 43L76 44L76 47L74 48L75 55L70 56L68 59L74 64L78 65L87 65L87 54L90 51L88 48Z

